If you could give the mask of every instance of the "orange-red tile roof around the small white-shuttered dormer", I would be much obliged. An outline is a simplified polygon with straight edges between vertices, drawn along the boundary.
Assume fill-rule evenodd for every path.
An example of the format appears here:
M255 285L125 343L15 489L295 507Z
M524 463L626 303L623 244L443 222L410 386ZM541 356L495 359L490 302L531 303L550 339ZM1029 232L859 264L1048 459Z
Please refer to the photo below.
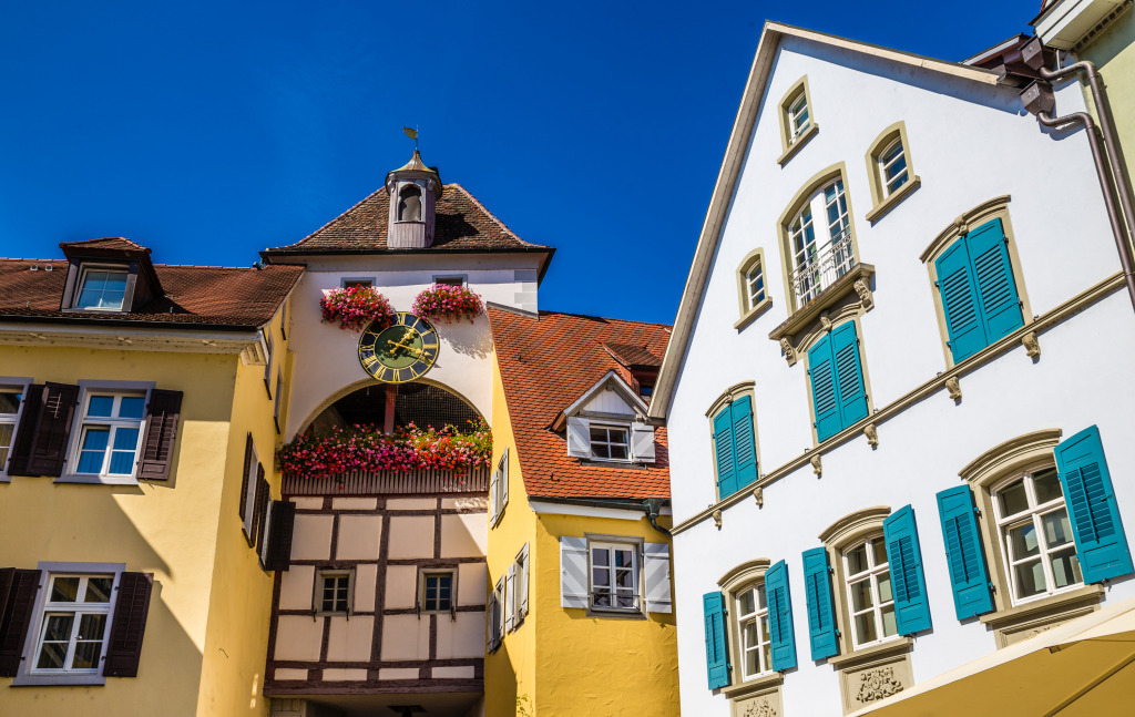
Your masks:
M656 462L645 470L581 465L568 455L563 433L549 430L619 362L608 346L666 351L670 327L541 311L539 318L489 307L489 326L529 496L556 498L669 498L666 429L655 429Z

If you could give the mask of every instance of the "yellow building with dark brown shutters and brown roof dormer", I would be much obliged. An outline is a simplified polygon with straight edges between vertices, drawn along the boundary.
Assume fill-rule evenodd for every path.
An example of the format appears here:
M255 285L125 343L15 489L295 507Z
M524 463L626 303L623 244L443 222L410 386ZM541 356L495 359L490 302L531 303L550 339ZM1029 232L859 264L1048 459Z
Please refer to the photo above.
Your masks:
M0 260L0 714L267 715L303 269L60 246Z

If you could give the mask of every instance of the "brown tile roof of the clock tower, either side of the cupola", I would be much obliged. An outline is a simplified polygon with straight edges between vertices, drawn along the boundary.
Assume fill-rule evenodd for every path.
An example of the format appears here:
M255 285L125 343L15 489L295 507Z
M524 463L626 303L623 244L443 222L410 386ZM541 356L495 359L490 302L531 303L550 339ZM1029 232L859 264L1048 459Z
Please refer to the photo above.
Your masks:
M263 254L334 254L386 250L390 194L382 187L316 230L287 246ZM406 251L406 250L390 250ZM547 251L512 233L460 184L447 184L437 203L434 245L421 251Z

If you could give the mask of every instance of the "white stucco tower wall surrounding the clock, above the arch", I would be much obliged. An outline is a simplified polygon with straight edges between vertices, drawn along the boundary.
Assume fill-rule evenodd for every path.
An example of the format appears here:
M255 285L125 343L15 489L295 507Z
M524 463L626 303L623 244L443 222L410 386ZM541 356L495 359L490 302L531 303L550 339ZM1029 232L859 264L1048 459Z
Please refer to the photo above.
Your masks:
M437 276L465 275L486 302L533 310L539 259L523 254L409 254L316 259L292 295L291 349L295 373L285 440L304 428L330 396L367 380L359 363L359 334L322 322L319 301L344 278L368 278L395 311L410 311L414 297ZM482 314L472 323L435 321L442 351L424 380L462 396L493 422L491 336Z

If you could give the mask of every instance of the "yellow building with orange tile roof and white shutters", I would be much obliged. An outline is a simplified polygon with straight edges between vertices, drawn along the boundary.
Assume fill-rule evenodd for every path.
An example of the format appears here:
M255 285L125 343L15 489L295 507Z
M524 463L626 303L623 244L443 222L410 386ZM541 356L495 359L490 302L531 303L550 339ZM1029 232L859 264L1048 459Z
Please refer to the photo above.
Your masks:
M678 715L666 436L645 403L669 327L489 323L486 715Z

